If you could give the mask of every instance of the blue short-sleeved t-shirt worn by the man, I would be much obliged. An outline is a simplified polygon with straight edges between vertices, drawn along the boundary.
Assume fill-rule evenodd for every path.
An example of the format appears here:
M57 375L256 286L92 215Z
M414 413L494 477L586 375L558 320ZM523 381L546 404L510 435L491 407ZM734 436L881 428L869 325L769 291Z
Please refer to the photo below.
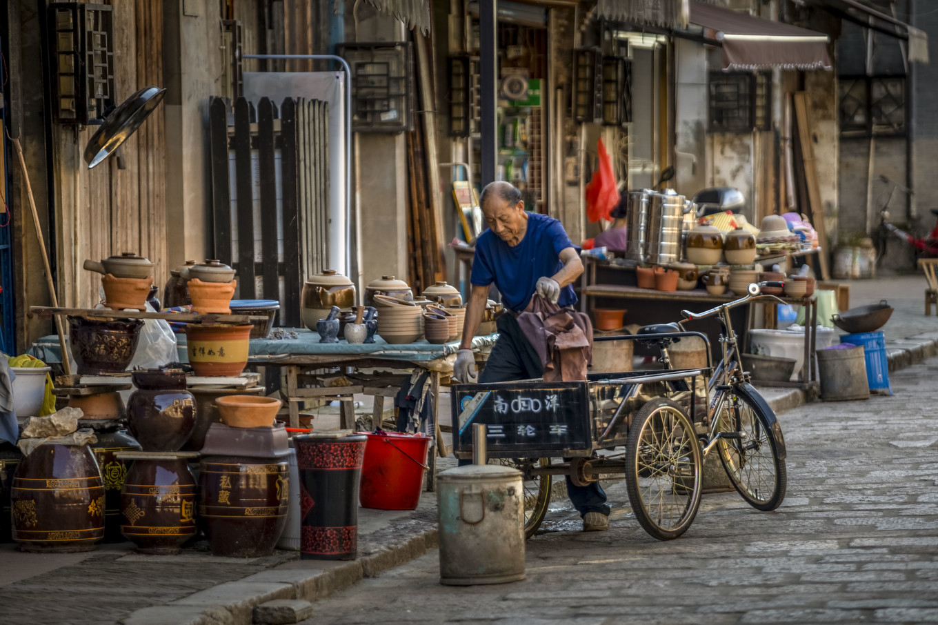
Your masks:
M534 296L537 280L551 278L564 264L560 252L574 247L560 221L528 213L527 230L521 242L511 247L492 230L486 230L476 240L476 257L472 263L470 282L477 286L495 286L502 301L513 311L522 312ZM572 306L577 303L573 286L560 289L557 303Z

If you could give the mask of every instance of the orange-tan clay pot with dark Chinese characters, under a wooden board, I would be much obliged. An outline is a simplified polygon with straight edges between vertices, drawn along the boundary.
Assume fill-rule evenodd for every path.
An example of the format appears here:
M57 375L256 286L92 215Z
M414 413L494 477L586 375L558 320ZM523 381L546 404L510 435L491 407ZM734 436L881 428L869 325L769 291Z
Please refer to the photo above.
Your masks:
M189 364L196 375L240 375L248 364L253 326L186 325Z

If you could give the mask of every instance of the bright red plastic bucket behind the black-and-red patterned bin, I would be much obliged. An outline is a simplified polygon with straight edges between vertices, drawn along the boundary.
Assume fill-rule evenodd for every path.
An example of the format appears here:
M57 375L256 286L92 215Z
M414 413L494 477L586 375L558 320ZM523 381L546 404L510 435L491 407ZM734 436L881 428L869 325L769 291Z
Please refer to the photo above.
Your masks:
M427 469L427 434L370 434L361 467L358 500L362 508L414 510Z

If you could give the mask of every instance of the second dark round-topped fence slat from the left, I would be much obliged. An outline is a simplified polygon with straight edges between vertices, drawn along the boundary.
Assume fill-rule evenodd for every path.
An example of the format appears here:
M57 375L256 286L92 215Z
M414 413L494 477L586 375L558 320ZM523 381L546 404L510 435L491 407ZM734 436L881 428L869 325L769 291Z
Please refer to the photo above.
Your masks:
M234 103L234 175L237 192L237 282L241 299L256 299L254 292L253 173L250 163L250 106Z

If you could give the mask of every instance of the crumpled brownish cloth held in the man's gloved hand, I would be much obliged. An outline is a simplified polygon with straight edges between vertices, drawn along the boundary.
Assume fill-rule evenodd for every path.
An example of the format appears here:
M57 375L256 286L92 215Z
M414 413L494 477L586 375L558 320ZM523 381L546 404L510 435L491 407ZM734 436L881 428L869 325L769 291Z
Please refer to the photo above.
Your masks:
M530 312L518 315L524 337L544 366L545 382L586 379L593 360L593 325L589 316L535 295Z

